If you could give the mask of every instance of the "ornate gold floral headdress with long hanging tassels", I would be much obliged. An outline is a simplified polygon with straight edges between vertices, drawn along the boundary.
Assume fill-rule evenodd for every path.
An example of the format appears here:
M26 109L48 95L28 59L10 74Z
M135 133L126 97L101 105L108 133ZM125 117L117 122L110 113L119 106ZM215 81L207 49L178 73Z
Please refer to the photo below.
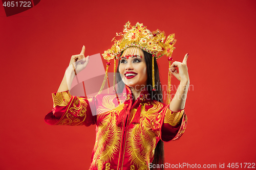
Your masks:
M114 59L114 90L115 90L115 69L116 69L116 58L117 55L122 51L126 50L126 48L134 46L139 47L141 50L152 54L152 79L153 79L153 90L155 89L155 72L154 72L154 58L159 59L163 55L168 57L169 67L170 61L172 61L173 50L175 49L174 44L176 43L176 39L174 39L175 34L170 34L166 41L164 31L156 30L151 32L143 23L137 22L135 26L131 26L130 21L126 22L124 25L123 33L116 33L116 36L122 36L120 40L116 40L115 37L112 39L114 41L114 45L109 50L106 50L104 54L102 54L103 58L107 60L106 62L106 75L101 86L100 92L102 91L105 81L108 80L108 67L110 65L110 60ZM167 93L170 94L170 72L168 74L168 89ZM116 90L115 90L116 91ZM100 93L99 92L99 93ZM167 98L167 102L170 102L170 99Z

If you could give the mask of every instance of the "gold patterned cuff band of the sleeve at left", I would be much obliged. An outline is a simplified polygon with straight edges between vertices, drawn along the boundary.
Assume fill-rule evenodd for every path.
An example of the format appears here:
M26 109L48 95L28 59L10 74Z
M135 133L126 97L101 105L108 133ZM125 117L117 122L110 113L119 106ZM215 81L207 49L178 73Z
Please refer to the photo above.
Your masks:
M55 106L67 106L71 100L71 94L69 91L62 91L57 93L52 93L53 107Z

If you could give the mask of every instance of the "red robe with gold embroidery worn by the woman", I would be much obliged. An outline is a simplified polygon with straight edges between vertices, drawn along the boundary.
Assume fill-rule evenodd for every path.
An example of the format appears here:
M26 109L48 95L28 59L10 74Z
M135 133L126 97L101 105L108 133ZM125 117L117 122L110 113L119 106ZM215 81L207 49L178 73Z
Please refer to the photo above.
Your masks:
M69 91L52 94L54 107L45 117L47 124L96 124L90 170L149 169L157 142L177 140L185 131L184 110L170 111L169 105L148 99L145 90L133 104L132 92L125 87L127 97L123 97L125 93L119 95L119 105L115 94L99 94L91 99L72 96ZM125 115L118 124L120 113ZM139 114L138 120L135 120L136 114Z

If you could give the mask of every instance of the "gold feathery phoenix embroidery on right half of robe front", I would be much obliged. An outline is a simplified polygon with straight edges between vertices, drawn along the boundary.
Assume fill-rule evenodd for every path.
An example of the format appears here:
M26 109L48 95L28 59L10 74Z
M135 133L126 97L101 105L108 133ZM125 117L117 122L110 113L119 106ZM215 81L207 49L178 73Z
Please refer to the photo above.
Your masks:
M153 107L145 110L145 105ZM134 125L127 134L127 152L130 160L139 169L148 169L147 164L154 157L156 147L156 134L152 130L151 120L158 116L158 111L163 107L160 102L144 103L141 109L140 124ZM136 109L135 109L136 111Z

